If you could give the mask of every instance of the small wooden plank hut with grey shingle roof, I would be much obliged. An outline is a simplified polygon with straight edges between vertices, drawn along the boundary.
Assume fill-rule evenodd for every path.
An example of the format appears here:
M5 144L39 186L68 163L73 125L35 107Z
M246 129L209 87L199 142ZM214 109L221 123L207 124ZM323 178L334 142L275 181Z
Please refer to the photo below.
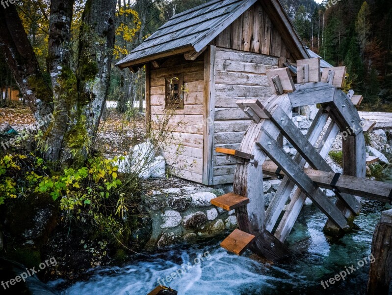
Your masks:
M266 71L312 54L279 0L211 0L174 15L117 66L145 66L148 128L174 109L168 125L181 159L171 162L173 145L167 164L181 167L179 177L215 186L233 183L235 172L215 148L237 149L251 121L236 100L270 97Z

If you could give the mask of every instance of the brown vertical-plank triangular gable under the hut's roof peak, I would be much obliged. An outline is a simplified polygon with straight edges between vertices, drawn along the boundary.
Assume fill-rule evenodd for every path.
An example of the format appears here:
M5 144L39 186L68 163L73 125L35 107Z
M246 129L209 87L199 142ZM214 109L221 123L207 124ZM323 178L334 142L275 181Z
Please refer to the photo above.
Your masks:
M211 44L280 57L281 66L286 61L295 62L291 60L284 40L259 1L223 30Z

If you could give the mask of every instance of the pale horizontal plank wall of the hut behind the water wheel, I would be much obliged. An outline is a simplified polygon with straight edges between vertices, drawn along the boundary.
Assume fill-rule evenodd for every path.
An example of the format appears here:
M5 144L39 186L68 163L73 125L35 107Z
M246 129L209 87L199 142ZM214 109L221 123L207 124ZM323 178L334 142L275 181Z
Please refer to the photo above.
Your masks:
M216 47L214 150L239 148L250 120L235 104L237 99L272 95L266 70L277 68L279 58ZM235 164L213 154L213 184L232 183Z

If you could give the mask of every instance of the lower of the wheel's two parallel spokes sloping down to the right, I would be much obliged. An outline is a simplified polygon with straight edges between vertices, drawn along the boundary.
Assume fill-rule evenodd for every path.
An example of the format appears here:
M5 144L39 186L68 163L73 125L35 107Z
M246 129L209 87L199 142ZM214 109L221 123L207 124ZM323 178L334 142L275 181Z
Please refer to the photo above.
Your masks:
M342 230L348 230L347 220L340 210L325 196L317 185L305 172L294 162L293 159L279 146L267 131L261 130L257 143L265 151L280 169L282 169L291 181L293 181L304 193L307 194L314 204Z

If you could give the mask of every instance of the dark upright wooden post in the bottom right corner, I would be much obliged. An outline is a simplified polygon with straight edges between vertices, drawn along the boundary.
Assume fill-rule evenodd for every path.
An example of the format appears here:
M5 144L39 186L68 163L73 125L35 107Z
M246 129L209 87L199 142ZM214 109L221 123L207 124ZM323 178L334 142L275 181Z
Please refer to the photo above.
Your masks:
M381 214L371 244L375 261L370 264L367 295L387 295L392 270L392 209Z

